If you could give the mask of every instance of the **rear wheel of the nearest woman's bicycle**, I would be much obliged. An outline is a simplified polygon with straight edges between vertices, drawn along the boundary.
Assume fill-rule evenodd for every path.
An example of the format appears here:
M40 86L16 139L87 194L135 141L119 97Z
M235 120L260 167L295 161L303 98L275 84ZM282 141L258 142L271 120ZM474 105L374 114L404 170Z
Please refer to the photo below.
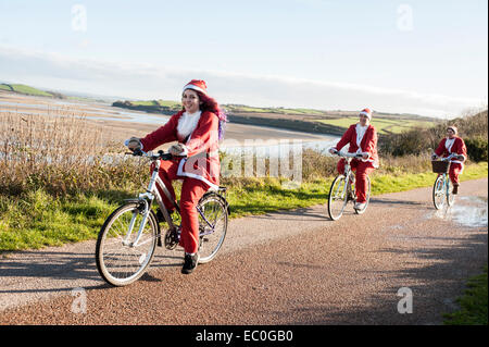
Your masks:
M226 200L215 193L206 194L197 206L199 213L199 263L210 262L217 255L227 232Z

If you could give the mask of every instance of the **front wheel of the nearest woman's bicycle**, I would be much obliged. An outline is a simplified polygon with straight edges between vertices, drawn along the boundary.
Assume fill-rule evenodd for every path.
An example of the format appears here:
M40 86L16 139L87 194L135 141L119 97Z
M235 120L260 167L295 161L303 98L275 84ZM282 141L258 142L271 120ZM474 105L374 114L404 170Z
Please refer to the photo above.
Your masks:
M97 269L102 278L113 286L125 286L145 274L156 247L158 222L148 214L145 228L136 240L143 213L140 205L121 206L106 219L97 239Z

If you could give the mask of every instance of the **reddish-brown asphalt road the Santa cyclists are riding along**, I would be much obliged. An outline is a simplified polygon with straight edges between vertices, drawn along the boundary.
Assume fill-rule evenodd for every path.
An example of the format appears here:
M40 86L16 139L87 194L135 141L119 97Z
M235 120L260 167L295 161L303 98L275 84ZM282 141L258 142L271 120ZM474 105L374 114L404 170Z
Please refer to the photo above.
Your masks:
M443 211L421 188L336 222L325 206L231 220L193 274L180 274L181 250L158 248L122 288L98 275L93 241L11 253L0 324L440 324L487 263L487 184L464 182Z

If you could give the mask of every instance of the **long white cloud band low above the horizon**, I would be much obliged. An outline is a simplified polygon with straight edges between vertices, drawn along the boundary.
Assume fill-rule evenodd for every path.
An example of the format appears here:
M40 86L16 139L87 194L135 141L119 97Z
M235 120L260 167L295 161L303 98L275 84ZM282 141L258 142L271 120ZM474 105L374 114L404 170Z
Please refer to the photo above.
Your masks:
M208 82L222 103L303 107L455 116L467 108L487 104L487 98L453 98L397 88L311 80L225 71L191 71L146 63L109 62L40 51L0 47L0 79L45 88L74 90L131 99L179 98L185 83Z

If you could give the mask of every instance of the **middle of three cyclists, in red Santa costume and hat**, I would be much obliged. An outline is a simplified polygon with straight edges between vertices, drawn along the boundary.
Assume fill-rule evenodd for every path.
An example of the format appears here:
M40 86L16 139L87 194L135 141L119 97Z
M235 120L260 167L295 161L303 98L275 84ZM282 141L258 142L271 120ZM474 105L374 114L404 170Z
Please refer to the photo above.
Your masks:
M355 171L355 193L356 203L355 209L362 210L366 202L366 189L367 189L367 176L378 168L377 156L377 131L371 124L372 110L364 109L359 114L360 122L350 125L336 147L329 149L329 152L334 154L336 151L341 150L346 145L350 145L348 152L361 153L363 158L354 158L351 161L351 169ZM346 160L341 159L338 162L338 172L342 174L344 172Z

